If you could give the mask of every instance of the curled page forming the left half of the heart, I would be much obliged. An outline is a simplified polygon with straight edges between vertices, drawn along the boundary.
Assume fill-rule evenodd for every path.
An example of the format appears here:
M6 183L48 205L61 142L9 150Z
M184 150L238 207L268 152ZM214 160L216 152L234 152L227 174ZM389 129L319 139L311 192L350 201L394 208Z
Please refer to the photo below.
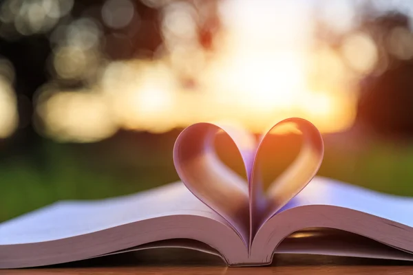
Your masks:
M219 134L231 140L251 177L255 139L241 127L229 124L197 123L184 129L173 146L173 163L180 179L191 192L233 225L233 230L248 242L248 181L226 166L215 151Z

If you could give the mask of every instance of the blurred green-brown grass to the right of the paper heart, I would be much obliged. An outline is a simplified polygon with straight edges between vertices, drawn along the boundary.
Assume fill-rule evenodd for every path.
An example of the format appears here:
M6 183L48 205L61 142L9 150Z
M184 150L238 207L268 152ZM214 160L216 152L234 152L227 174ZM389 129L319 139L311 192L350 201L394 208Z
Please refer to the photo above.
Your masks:
M319 175L412 197L413 142L371 140L357 148L327 143Z

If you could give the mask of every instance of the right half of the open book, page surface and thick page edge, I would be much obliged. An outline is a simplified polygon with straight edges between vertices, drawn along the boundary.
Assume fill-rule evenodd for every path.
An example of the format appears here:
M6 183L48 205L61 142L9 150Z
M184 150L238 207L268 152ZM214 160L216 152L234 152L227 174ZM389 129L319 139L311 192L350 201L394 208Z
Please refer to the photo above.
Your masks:
M334 228L413 252L410 212L413 212L411 197L387 195L334 179L315 177L260 228L251 248L251 261L270 263L279 243L289 234L305 228ZM334 254L346 256L359 253L345 249L320 247L317 250L319 254L332 254L331 251L336 250ZM374 257L374 253L372 248L370 256ZM385 255L381 258L394 259ZM405 258L412 259L412 256Z

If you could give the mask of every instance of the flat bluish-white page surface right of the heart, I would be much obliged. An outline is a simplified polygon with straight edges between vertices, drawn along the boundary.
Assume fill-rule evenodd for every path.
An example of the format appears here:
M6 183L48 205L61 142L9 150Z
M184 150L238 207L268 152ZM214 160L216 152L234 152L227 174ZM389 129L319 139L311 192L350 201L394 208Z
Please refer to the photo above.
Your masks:
M413 227L413 197L388 195L325 177L315 177L282 210L315 204L359 210Z

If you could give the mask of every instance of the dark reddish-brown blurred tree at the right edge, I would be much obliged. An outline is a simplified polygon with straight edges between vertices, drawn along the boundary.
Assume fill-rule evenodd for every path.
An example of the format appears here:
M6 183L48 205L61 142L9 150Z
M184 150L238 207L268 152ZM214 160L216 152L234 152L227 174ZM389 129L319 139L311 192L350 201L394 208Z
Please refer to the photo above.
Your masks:
M370 33L381 48L378 62L381 67L360 82L357 122L370 126L376 133L413 134L413 56L403 56L403 52L394 56L390 48L390 43L403 46L403 37L391 41L392 34L395 30L407 30L404 34L412 35L409 25L409 17L400 12L366 19L361 24L361 29ZM405 51L413 50L413 44L406 47Z

